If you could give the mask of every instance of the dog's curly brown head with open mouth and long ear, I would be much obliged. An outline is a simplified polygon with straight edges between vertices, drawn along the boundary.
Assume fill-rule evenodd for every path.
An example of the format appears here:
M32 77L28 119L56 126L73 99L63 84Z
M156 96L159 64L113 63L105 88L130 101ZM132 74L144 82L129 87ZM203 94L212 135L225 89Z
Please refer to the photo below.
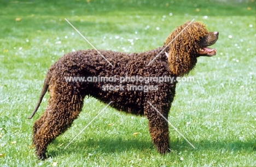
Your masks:
M177 27L164 43L168 46L171 73L177 76L188 74L195 67L197 57L216 55L216 50L208 46L216 43L218 35L218 32L208 32L201 22L187 22Z

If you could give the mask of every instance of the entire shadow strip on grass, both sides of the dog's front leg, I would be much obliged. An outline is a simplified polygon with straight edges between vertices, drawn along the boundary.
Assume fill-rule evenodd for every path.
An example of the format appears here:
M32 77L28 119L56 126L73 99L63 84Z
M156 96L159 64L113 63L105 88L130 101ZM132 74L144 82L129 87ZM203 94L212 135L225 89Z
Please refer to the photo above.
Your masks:
M64 143L61 147L57 146L60 143ZM185 140L174 140L171 141L171 150L175 151L191 151L191 152L202 152L202 151L225 151L225 152L236 152L236 151L256 151L256 140L249 141L210 141L202 140L200 142L192 141L196 149L194 150ZM126 151L142 151L142 152L155 152L151 140L145 141L143 139L88 139L74 141L66 149L64 147L68 144L65 140L57 140L51 144L48 157L57 157L61 154L79 154L84 155L89 153L101 152L101 153L122 153Z

